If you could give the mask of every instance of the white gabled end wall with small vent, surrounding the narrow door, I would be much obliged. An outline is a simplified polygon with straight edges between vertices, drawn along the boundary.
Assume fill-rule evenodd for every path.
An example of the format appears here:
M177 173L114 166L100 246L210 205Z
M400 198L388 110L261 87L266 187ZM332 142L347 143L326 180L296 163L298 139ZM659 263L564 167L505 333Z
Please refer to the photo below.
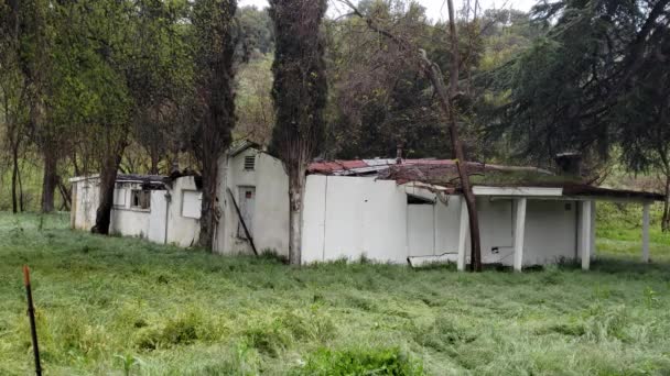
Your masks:
M255 156L252 170L244 167L245 157ZM281 162L267 153L248 148L226 158L225 184L219 187L219 201L223 199L223 219L217 229L217 252L221 254L251 254L250 243L238 236L239 215L227 189L230 189L238 206L239 188L256 189L253 221L250 224L257 251L271 251L289 255L289 178Z

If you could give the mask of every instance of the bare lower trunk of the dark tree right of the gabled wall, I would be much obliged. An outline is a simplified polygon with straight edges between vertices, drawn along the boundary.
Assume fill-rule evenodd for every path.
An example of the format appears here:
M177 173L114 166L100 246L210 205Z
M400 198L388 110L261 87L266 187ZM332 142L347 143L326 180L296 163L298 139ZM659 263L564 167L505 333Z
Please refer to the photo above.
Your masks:
M302 208L304 203L305 169L289 174L289 263L302 264Z

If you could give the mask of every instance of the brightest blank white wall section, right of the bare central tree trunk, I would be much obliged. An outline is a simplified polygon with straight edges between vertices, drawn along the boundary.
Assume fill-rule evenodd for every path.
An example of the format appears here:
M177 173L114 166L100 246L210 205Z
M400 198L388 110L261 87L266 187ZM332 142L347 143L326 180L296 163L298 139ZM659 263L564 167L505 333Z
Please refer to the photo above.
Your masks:
M303 263L357 259L407 262L407 193L396 181L307 176Z

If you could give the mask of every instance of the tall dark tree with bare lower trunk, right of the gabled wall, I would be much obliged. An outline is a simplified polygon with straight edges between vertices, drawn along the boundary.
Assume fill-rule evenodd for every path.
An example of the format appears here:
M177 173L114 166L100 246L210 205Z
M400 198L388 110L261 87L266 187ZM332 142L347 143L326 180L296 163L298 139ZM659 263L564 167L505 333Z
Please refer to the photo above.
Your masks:
M289 175L289 261L301 264L302 210L307 164L323 143L327 97L325 0L270 0L274 21L275 125L270 144Z

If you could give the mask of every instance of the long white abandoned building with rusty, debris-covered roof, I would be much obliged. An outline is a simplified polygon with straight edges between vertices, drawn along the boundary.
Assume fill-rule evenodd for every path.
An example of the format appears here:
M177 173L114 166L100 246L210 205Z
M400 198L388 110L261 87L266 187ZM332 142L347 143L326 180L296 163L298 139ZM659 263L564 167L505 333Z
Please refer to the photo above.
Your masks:
M523 266L595 257L595 211L601 200L644 206L642 258L649 258L649 204L662 196L582 181L579 159L559 157L562 173L468 163L485 264ZM263 251L288 255L288 177L279 159L240 143L220 161L220 254ZM72 226L89 230L97 177L73 184ZM197 240L201 193L193 176L119 175L111 231L190 246ZM309 167L302 224L302 263L365 256L420 265L469 258L468 217L456 164L449 159L315 162Z

